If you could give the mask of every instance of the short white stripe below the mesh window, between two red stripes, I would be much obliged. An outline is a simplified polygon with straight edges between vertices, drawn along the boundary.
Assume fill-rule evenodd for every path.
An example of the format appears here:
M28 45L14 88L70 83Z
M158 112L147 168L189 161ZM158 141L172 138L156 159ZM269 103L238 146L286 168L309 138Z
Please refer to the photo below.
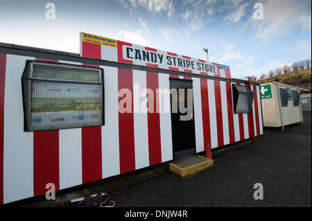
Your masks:
M59 130L60 189L83 183L81 128Z

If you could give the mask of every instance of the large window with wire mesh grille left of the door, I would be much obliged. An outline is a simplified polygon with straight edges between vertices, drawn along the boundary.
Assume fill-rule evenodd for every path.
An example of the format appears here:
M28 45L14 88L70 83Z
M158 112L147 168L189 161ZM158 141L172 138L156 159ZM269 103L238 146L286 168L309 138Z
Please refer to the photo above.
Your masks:
M104 125L103 69L26 62L21 77L24 130Z

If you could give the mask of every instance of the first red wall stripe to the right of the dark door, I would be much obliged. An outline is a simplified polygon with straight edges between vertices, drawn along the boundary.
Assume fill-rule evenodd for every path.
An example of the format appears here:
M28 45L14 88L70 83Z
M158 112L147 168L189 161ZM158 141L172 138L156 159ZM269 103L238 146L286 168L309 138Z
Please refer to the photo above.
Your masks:
M200 94L202 100L202 132L204 135L204 148L211 150L209 97L207 79L200 78Z

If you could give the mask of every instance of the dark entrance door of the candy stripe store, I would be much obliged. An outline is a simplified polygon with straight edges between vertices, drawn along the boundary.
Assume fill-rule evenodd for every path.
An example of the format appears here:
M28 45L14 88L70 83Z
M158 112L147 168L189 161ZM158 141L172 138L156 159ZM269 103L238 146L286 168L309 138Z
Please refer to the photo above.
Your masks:
M193 91L193 83L191 80L170 79L170 89L176 89L177 96L171 93L171 127L173 139L173 156L195 152L195 125L193 117L193 109L191 109L191 117L188 121L181 121L180 116L186 116L187 113L181 113L181 109L177 108L177 112L173 105L180 107L179 103L184 102L184 107L187 107L187 89ZM179 89L182 89L179 90ZM180 94L184 94L180 98ZM192 97L193 98L193 97ZM193 99L191 100L193 102ZM193 103L192 103L193 104ZM193 107L193 105L192 105ZM183 111L183 110L182 110Z

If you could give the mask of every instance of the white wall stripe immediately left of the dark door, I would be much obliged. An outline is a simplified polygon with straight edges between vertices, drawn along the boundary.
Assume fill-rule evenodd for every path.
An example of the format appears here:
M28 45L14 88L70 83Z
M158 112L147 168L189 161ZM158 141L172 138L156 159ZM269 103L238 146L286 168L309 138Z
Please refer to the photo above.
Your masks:
M159 89L167 89L170 91L169 75L164 73L158 74ZM162 101L161 101L162 100ZM170 98L164 103L165 99L159 96L159 106L162 106L162 111L159 113L160 123L160 141L162 145L162 162L173 159L172 134L171 134L171 102ZM166 108L167 107L167 108ZM167 111L164 112L164 109Z

